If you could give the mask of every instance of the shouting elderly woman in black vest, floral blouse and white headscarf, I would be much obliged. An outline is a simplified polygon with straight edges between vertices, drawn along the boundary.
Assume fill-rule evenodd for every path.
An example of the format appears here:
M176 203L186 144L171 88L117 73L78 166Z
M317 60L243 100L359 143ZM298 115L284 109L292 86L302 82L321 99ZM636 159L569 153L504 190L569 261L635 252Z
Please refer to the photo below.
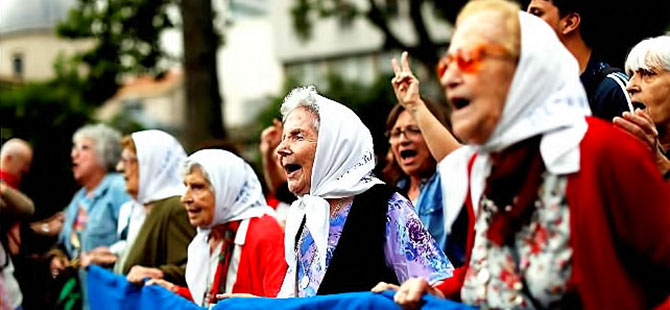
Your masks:
M451 276L451 263L411 203L372 176L372 136L356 114L313 87L293 90L281 112L277 152L289 189L299 198L286 222L289 270L279 296Z

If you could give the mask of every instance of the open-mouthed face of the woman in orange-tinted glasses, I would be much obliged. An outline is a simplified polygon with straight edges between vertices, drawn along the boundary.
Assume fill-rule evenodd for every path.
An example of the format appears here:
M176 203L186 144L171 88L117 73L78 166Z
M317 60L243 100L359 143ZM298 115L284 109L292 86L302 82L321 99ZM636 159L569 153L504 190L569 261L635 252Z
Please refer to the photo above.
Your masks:
M468 144L491 137L505 106L516 70L516 59L501 44L506 34L502 17L490 11L476 13L456 29L442 62L440 78L453 105L454 134Z

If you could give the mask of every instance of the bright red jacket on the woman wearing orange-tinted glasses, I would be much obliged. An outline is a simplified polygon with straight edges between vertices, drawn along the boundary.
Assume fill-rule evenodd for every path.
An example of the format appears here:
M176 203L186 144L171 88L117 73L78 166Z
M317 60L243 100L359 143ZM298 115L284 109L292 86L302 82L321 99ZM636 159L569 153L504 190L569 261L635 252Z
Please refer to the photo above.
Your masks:
M639 141L611 123L587 122L580 171L568 176L566 189L573 249L568 289L584 309L648 309L670 293L670 187ZM472 233L468 260L471 239ZM436 287L458 299L466 268Z

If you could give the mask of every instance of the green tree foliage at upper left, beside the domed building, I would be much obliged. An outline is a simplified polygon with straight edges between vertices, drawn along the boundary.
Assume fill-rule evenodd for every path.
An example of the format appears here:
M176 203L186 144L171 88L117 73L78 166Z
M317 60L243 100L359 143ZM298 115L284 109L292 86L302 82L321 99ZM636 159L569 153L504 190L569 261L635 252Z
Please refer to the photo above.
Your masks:
M119 87L126 73L158 74L166 55L159 36L173 27L167 15L172 0L78 0L67 20L58 25L60 36L92 39L92 49L76 55L76 68L84 66L83 98L102 104Z

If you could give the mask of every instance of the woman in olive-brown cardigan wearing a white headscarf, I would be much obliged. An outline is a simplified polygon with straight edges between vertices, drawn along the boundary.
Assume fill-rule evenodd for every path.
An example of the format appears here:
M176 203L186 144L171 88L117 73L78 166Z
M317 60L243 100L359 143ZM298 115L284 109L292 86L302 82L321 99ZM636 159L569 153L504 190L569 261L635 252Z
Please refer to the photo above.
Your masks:
M121 145L117 168L123 171L126 190L143 208L133 210L117 270L131 282L149 277L185 283L186 249L195 235L179 202L184 186L178 169L186 152L160 130L135 132Z

